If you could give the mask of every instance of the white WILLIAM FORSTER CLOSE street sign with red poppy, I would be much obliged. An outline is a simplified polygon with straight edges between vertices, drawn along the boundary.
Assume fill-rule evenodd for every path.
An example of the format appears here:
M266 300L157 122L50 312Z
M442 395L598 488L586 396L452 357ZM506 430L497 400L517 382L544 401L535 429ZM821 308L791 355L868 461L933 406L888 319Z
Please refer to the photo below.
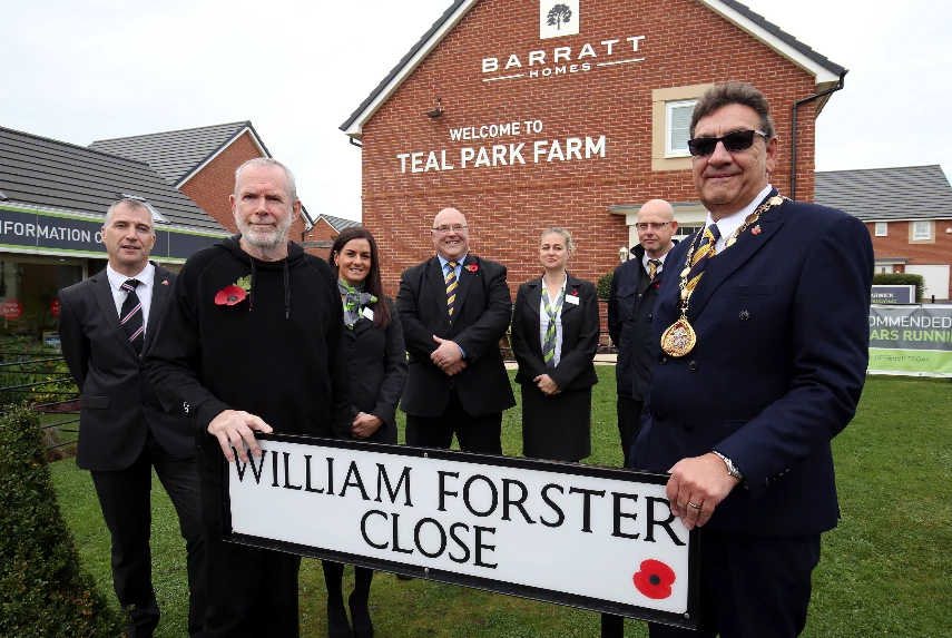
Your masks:
M698 536L667 475L271 434L224 463L225 539L696 627Z

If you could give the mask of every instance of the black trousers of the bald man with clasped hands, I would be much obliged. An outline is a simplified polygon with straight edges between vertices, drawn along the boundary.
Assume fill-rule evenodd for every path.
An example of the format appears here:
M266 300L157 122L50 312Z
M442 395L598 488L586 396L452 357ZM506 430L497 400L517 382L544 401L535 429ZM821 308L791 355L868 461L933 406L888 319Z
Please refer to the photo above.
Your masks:
M502 454L502 412L471 415L460 403L455 387L442 416L406 415L408 445L449 450L454 433L464 452Z

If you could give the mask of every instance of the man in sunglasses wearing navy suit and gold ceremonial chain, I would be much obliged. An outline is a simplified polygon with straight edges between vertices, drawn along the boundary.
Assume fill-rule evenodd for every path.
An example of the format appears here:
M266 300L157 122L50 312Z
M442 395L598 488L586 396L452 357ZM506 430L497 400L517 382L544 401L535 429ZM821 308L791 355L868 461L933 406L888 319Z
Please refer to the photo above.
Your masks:
M771 186L777 138L750 85L710 89L690 134L709 218L667 258L631 455L670 472L673 514L704 527L700 630L650 636L793 637L838 518L831 440L865 382L872 242L855 217Z

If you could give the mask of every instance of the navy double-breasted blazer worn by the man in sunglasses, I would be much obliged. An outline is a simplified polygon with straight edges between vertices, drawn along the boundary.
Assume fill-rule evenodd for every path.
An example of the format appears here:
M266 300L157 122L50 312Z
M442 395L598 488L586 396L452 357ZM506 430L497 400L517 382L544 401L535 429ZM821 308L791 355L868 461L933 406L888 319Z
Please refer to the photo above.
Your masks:
M668 274L681 271L690 245L671 251ZM872 275L870 232L857 218L789 200L763 214L695 288L694 350L659 354L634 467L667 472L716 449L746 489L730 492L709 527L778 536L834 528L830 442L865 382ZM678 283L661 283L656 340L680 315Z

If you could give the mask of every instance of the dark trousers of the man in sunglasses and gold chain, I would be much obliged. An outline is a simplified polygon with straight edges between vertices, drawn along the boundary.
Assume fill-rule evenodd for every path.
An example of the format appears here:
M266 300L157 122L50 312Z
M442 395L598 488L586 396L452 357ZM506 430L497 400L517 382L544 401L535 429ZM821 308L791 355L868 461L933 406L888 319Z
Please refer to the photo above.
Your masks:
M650 638L795 638L806 626L819 534L762 537L704 529L700 627L648 624Z

